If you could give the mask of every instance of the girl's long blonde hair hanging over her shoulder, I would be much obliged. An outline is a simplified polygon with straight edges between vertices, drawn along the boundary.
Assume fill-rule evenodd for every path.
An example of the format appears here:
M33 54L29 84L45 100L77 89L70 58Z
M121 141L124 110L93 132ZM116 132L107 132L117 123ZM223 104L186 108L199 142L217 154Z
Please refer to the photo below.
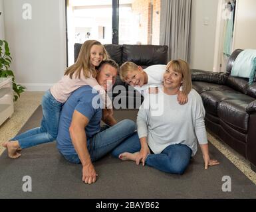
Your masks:
M70 79L72 79L73 74L75 74L76 78L80 79L82 70L85 78L90 78L90 76L96 78L96 69L90 64L90 49L93 45L102 46L103 60L108 60L110 58L108 52L106 52L106 49L100 42L97 40L86 40L86 42L84 42L80 48L76 62L66 69L64 75L69 75Z

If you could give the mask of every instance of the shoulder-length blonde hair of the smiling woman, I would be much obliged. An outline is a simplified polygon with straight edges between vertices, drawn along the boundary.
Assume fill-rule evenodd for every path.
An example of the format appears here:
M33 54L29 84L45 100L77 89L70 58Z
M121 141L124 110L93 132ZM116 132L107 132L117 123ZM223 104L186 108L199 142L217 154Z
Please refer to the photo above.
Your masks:
M186 95L190 93L192 89L192 79L190 74L190 66L184 60L171 60L166 66L166 70L172 68L174 72L182 74L182 92Z

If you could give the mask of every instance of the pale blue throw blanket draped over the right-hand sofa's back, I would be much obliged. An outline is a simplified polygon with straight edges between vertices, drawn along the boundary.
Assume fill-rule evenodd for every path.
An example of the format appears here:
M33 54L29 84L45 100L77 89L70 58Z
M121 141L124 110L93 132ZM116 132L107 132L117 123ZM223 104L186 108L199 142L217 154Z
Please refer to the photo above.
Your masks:
M249 85L253 83L256 70L256 50L246 49L238 54L231 70L231 76L249 78Z

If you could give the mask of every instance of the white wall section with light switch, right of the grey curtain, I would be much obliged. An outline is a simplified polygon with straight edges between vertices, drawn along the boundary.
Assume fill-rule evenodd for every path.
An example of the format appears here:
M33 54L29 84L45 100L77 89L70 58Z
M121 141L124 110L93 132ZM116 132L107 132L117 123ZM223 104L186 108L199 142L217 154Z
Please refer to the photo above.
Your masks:
M192 0L190 68L213 70L217 6L216 0Z

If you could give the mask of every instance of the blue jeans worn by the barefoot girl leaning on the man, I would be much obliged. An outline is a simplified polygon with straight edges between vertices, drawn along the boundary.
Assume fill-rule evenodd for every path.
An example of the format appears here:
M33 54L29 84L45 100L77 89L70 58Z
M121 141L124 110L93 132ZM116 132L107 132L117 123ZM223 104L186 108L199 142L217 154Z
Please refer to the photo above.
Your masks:
M48 90L42 99L43 119L41 127L23 132L11 140L18 140L21 148L29 148L38 144L51 142L57 138L59 118L63 103L60 103Z

